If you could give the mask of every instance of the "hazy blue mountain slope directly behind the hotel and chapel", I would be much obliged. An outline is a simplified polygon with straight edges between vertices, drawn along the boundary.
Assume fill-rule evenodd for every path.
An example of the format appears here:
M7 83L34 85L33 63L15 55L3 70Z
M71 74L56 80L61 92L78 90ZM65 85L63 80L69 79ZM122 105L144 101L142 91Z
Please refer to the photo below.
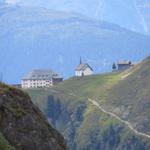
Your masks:
M80 56L95 72L105 72L113 62L139 61L150 51L149 36L118 25L21 6L0 6L0 41L0 74L9 83L33 68L72 76Z

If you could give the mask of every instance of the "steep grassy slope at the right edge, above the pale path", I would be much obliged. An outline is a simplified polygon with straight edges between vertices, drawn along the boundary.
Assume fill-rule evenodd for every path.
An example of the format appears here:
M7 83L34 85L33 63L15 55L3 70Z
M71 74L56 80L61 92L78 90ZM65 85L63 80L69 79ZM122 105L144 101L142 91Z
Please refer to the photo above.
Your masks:
M139 131L150 134L150 57L128 72L130 75L109 91L105 104Z

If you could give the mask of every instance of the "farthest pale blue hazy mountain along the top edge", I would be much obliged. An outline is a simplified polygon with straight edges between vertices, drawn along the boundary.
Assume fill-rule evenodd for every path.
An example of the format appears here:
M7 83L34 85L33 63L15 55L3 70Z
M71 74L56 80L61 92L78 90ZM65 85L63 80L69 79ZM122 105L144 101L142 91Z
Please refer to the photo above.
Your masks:
M119 24L133 31L150 33L150 0L6 0L6 2L76 12Z

